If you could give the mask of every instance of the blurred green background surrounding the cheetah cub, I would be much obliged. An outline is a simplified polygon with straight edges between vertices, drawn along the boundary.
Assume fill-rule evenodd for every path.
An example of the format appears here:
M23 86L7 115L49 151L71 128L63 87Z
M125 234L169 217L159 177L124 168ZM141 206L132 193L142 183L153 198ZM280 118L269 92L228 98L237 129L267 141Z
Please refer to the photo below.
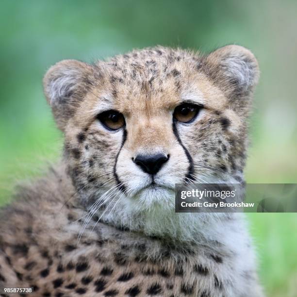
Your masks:
M297 182L297 1L0 1L0 203L59 158L42 77L62 59L133 48L251 49L261 79L247 182ZM267 296L297 296L297 214L248 214Z

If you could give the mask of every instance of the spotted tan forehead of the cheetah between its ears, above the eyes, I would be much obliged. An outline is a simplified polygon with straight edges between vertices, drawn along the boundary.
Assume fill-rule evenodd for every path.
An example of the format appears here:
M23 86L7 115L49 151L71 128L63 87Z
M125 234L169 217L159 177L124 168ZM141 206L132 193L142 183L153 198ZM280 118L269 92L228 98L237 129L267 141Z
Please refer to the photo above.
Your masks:
M157 47L133 50L95 68L103 79L88 99L101 109L116 108L122 113L143 115L173 109L181 101L191 101L220 109L223 93L199 71L198 52ZM91 109L92 110L92 109ZM98 112L96 109L92 112Z

